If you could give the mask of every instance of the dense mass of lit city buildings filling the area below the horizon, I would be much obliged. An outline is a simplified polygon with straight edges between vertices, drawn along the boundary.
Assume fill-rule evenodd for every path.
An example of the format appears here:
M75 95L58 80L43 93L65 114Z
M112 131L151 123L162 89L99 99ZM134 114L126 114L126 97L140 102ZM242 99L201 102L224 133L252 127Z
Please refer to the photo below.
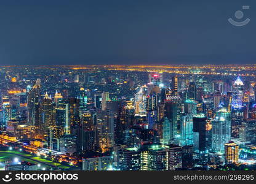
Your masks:
M254 77L66 67L0 73L0 136L82 156L84 170L164 171L256 159Z

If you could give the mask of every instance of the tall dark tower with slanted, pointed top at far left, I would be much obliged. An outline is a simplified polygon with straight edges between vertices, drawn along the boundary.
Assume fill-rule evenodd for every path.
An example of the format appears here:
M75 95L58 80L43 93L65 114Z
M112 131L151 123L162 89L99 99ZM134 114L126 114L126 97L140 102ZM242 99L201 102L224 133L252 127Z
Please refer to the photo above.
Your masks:
M41 80L37 79L33 88L28 92L27 123L36 133L39 131L39 102L40 102Z

